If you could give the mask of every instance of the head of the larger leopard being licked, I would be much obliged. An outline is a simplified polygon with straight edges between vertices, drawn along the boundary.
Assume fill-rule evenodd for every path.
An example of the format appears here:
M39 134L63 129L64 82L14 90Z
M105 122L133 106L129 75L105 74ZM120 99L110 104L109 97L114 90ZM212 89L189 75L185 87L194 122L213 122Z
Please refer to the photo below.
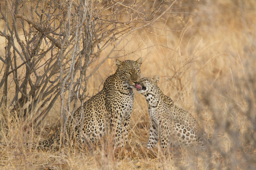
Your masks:
M140 78L140 65L142 63L142 58L133 60L120 61L116 59L116 64L118 66L117 74L125 83L135 87Z

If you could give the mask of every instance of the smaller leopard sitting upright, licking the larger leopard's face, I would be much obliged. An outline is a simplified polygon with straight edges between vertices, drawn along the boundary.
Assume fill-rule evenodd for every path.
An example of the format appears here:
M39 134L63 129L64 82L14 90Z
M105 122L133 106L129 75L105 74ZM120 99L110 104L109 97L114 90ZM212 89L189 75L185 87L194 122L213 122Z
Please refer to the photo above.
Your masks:
M150 118L148 148L155 147L159 141L162 148L167 145L200 144L198 123L192 115L174 105L172 99L166 96L157 86L159 76L141 78L136 85L139 93L146 97Z

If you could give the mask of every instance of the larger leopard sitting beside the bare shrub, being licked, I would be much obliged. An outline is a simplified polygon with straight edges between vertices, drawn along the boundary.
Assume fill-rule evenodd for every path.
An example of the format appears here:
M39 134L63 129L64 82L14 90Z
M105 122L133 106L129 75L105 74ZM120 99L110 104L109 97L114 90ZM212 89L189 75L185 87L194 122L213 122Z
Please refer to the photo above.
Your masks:
M96 141L108 132L110 126L114 133L115 146L123 147L127 143L128 127L133 108L133 90L140 78L142 58L120 61L116 59L117 70L109 76L103 89L91 97L69 117L67 129L82 143ZM81 119L82 118L82 119ZM60 142L60 133L39 142L39 148L53 148Z

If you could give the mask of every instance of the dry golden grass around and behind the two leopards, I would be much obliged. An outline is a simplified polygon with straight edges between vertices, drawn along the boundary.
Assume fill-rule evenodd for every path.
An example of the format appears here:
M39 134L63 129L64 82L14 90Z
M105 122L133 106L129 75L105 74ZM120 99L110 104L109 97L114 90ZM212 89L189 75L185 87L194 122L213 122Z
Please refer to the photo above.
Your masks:
M0 169L256 169L256 2L196 4L190 17L181 14L130 35L112 57L132 51L121 59L144 57L143 76L159 75L162 91L198 119L211 137L209 152L147 151L147 103L135 93L129 143L119 155L110 144L94 146L93 151L29 149L24 143L46 138L57 124L58 104L35 133L22 130L24 125L12 122L17 119L1 108ZM184 29L172 31L180 25ZM90 96L115 69L114 59L108 59L91 76Z

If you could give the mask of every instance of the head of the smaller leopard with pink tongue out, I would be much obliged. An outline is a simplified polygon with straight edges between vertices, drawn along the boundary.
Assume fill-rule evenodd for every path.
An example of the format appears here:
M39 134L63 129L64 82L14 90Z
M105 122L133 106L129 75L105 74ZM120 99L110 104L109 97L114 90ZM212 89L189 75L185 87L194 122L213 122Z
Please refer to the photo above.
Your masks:
M136 90L138 93L146 94L148 92L154 92L158 89L157 83L159 81L159 76L154 76L153 78L144 77L141 78L136 84Z

